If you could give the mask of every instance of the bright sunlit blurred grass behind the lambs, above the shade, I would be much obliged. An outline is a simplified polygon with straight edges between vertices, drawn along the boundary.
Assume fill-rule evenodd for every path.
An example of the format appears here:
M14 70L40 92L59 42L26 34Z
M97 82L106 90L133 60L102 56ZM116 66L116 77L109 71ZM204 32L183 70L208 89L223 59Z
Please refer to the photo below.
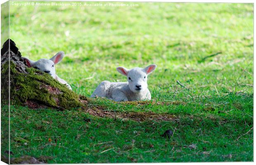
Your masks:
M117 66L152 63L158 65L148 82L153 98L172 97L175 80L192 88L190 96L216 94L216 89L219 94L252 92L241 86L253 82L252 4L100 3L102 7L11 4L10 38L31 60L64 51L57 74L86 96L102 80L125 81ZM218 52L222 53L201 62ZM203 85L207 87L200 88Z

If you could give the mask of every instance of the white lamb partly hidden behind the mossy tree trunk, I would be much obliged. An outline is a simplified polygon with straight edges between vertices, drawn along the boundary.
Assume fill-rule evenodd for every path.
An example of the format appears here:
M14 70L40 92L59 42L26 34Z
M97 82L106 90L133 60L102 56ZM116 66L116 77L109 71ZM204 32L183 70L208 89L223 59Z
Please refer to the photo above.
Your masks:
M64 52L59 52L50 60L42 58L36 62L29 60L28 58L24 58L29 67L33 67L35 69L39 69L42 72L50 74L55 80L58 80L60 83L65 84L70 90L72 90L71 86L63 79L59 78L55 73L55 64L59 63L64 57Z

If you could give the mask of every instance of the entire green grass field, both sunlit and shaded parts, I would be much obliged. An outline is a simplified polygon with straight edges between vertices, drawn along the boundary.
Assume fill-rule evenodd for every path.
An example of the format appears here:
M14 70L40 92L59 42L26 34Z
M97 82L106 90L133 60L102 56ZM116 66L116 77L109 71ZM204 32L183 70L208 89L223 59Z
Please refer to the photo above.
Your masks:
M10 38L31 60L64 51L56 72L85 96L103 80L126 81L117 66L155 63L148 78L152 101L92 99L89 106L173 119L134 121L13 105L12 157L43 156L47 163L253 161L253 4L123 3L137 5L11 5ZM174 131L171 139L161 137L167 129Z

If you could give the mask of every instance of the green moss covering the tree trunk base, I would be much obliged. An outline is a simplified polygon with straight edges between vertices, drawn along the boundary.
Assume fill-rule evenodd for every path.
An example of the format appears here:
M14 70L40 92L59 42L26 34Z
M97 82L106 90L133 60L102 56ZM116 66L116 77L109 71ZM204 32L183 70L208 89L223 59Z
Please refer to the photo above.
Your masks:
M8 64L2 67L2 75L8 76ZM27 100L36 101L54 108L74 108L83 104L79 96L69 90L66 85L60 84L47 73L33 68L26 68L28 74L19 73L15 64L10 62L10 99L11 104L23 105ZM5 76L5 77L7 77ZM49 92L47 85L53 87L55 92ZM2 91L6 92L6 91Z

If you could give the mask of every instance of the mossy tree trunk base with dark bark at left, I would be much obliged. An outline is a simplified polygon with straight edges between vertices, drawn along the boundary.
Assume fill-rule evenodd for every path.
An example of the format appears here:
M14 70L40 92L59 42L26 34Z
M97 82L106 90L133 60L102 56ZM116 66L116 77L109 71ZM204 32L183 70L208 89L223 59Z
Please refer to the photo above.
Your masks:
M10 90L8 86L10 85ZM47 73L29 68L14 41L8 39L1 49L1 101L30 108L69 109L85 106L79 96Z

